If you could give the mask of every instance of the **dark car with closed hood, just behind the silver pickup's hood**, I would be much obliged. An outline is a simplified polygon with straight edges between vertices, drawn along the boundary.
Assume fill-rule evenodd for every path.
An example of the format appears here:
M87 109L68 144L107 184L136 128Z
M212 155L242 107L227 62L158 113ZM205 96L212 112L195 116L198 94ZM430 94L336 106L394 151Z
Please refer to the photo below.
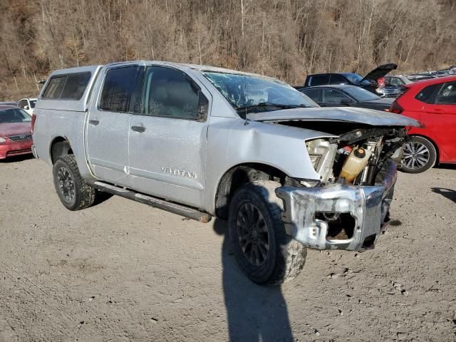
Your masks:
M302 88L300 91L321 107L345 105L389 111L391 103L393 103L392 98L380 98L380 96L357 86L316 86Z

